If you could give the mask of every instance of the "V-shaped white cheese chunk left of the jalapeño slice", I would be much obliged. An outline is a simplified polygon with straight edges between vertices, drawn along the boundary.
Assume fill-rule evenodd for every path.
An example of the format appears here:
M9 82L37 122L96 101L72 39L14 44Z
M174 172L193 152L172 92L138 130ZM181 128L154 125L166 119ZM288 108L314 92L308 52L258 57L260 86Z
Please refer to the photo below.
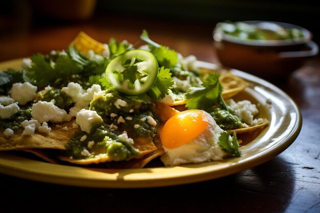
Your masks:
M94 98L94 94L101 91L101 86L94 84L87 90L84 90L80 84L70 82L67 87L62 87L61 90L71 97L76 107L88 108Z

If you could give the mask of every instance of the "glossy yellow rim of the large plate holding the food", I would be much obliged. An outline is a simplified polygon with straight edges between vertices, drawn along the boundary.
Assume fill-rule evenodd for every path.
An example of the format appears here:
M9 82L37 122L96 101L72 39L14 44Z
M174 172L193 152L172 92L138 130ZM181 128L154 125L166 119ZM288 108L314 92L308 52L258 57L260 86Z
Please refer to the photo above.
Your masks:
M10 65L16 65L21 62L21 58L13 59L9 61L0 62L1 67L6 67ZM197 61L197 66L208 69L216 69L220 67L217 64ZM9 68L9 67L7 67ZM72 186L82 186L82 187L99 187L99 188L146 188L146 187L160 187L160 186L172 186L187 183L200 182L205 180L216 179L228 175L232 175L243 171L245 169L253 168L259 164L262 164L273 157L279 155L284 150L286 150L298 137L302 128L302 114L298 105L291 99L290 96L282 89L277 86L259 78L252 74L248 74L236 69L230 69L235 75L241 78L252 79L260 85L269 87L272 91L281 94L282 97L289 101L290 105L294 108L294 112L297 115L297 120L294 123L293 129L290 134L279 141L275 147L270 150L266 150L264 153L253 157L252 159L244 158L242 161L237 159L227 159L223 161L235 161L235 164L231 167L226 165L221 165L219 167L219 162L208 162L201 163L205 167L193 168L192 165L182 165L178 167L160 167L160 168L143 168L143 169L88 169L82 167L75 167L72 165L61 165L52 164L48 162L37 161L33 159L28 159L20 156L16 156L10 153L5 153L0 155L0 173L29 179L33 181L54 183L61 185L72 185ZM13 160L12 160L13 159ZM26 167L28 165L28 167ZM47 170L41 170L41 168L54 169L51 172ZM39 170L40 169L40 170ZM81 176L74 176L72 174L60 174L58 170L73 170L76 174L81 174ZM163 171L170 171L172 169L178 170L180 174L161 176ZM108 172L106 172L108 171ZM158 174L154 175L154 173ZM123 177L117 177L119 176ZM132 175L133 174L133 175ZM139 178L139 175L143 174L145 178ZM95 175L95 177L91 176ZM125 176L127 175L127 176ZM147 178L147 175L148 178ZM138 177L138 178L137 178Z

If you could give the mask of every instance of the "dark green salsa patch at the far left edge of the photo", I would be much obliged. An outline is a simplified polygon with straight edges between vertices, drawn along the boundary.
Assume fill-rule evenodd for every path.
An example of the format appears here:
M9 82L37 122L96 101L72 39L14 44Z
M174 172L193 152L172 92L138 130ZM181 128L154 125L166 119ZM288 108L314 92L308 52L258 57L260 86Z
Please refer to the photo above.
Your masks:
M5 130L7 128L17 130L21 127L21 123L25 120L31 119L31 108L19 109L17 113L13 114L9 119L0 119L0 130Z

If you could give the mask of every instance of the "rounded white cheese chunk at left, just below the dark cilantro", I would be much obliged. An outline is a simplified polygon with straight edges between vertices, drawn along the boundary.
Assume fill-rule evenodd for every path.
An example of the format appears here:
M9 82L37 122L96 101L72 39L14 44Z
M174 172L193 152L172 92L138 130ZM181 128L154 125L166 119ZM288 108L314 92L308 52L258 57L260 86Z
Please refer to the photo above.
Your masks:
M20 105L25 105L36 97L36 91L37 86L25 82L12 84L12 88L8 93Z

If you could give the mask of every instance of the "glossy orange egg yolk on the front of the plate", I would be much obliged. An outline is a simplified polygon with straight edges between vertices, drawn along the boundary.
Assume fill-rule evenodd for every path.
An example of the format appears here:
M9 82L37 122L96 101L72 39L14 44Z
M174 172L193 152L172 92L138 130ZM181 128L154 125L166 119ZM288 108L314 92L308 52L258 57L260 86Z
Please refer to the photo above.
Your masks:
M209 125L208 113L202 110L186 110L173 115L161 131L165 148L173 149L189 143Z

